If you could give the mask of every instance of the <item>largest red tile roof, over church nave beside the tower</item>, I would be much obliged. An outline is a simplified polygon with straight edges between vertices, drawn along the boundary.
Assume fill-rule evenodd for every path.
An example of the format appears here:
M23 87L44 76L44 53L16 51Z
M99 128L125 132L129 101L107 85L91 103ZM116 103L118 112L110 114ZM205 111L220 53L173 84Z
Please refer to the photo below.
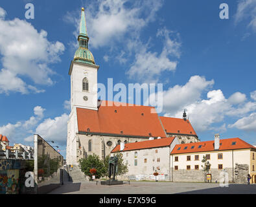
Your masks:
M154 107L116 106L118 102L102 101L99 110L76 108L79 133L100 133L128 136L166 137ZM106 106L104 106L106 105Z

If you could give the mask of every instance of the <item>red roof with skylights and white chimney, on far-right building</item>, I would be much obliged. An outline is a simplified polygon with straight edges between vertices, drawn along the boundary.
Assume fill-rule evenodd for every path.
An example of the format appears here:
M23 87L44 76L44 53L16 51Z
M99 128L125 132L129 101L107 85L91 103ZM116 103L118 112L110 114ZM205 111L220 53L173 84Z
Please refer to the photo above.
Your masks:
M233 142L236 142L235 145L232 145ZM189 144L177 144L172 150L171 154L181 154L181 153L197 153L203 151L215 151L214 140L205 141L205 142L194 142ZM194 146L192 149L191 147ZM198 146L201 146L198 148ZM187 149L185 149L187 147ZM179 149L180 148L180 149ZM240 138L226 138L220 140L219 150L232 150L232 149L256 149L256 147L244 142Z

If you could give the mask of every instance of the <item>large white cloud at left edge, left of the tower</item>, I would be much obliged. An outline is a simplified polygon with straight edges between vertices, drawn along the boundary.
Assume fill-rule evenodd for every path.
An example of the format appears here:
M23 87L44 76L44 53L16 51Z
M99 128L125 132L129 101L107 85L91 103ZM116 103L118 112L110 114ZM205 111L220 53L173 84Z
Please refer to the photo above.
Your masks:
M60 61L64 45L58 41L48 41L45 30L38 32L25 20L5 20L3 8L0 16L0 54L3 64L0 76L1 80L5 80L0 84L0 93L43 92L35 86L27 85L21 76L29 77L38 85L52 85L54 81L50 76L54 71L49 68L49 64Z

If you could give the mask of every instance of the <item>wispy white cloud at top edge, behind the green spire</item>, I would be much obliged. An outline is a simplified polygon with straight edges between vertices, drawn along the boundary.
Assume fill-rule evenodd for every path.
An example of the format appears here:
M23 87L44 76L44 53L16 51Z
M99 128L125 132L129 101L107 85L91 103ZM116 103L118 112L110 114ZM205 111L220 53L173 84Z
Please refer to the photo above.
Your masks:
M129 4L129 7L126 6ZM123 41L127 36L136 36L148 23L154 21L156 12L163 1L96 1L86 7L86 23L90 38L90 47L110 46L115 41ZM78 11L67 12L64 21L75 23L77 37L80 16Z

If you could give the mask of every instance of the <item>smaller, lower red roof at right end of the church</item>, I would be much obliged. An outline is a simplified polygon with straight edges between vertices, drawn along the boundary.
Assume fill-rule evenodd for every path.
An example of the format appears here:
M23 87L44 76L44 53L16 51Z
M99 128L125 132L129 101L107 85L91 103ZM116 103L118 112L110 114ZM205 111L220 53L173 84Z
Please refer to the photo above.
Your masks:
M167 133L196 135L189 120L185 121L183 118L170 118L165 116L160 116L160 119Z

